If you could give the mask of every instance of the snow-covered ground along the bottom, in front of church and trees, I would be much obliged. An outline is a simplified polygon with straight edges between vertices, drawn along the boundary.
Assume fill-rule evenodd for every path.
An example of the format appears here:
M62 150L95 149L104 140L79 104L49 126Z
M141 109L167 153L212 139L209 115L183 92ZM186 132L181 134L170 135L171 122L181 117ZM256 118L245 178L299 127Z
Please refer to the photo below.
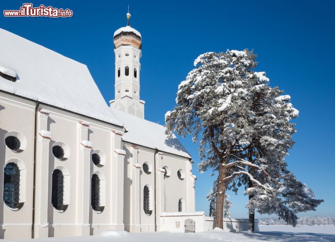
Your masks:
M253 241L334 241L335 226L302 226L293 228L285 225L259 226L259 233L229 233L221 229L201 233L128 233L126 231L108 231L99 236L35 239L34 242L253 242ZM32 240L20 240L28 242ZM19 242L19 240L16 240Z

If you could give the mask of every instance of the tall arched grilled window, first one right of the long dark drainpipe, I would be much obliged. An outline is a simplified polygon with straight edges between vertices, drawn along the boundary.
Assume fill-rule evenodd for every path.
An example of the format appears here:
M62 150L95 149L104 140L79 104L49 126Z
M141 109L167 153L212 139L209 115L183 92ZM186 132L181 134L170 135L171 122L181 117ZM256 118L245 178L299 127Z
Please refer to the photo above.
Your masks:
M57 210L62 210L64 205L64 176L59 169L52 173L51 203Z

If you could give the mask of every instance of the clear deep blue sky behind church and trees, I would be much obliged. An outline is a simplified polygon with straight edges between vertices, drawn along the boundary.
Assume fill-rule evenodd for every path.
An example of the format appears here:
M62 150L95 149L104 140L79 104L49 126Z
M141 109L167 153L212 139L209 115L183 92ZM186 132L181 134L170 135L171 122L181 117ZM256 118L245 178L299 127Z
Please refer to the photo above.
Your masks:
M296 144L288 168L325 200L316 212L300 215L335 217L335 1L32 1L73 10L71 18L5 18L2 10L23 2L1 1L0 28L14 32L76 61L85 63L106 102L114 96L112 36L126 25L143 38L141 99L145 117L164 124L175 105L178 84L207 51L254 49L258 71L266 71L272 86L292 97L299 109ZM30 2L30 1L28 1ZM1 43L1 40L0 40ZM197 144L181 142L199 162ZM206 211L212 185L209 172L193 173L196 210ZM246 197L229 193L232 217L246 217Z

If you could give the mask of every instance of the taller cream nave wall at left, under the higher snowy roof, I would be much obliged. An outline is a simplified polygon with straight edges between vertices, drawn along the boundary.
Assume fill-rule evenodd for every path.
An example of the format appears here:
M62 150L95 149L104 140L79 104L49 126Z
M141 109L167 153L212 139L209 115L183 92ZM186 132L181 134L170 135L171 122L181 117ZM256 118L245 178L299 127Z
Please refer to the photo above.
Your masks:
M3 191L3 169L6 163L19 161L20 202L22 208L14 211L0 203L0 238L32 238L34 120L36 103L0 92L0 190ZM80 236L97 234L107 229L123 230L123 168L121 149L122 131L109 123L83 117L65 110L40 104L36 130L36 190L34 233L35 238ZM89 122L82 125L80 121ZM39 135L41 130L51 132L52 138ZM19 133L24 150L9 150L4 142L8 135ZM122 132L121 132L122 134ZM22 136L22 137L21 137ZM24 137L24 138L23 138ZM24 141L26 140L26 141ZM89 140L93 147L84 147L82 140ZM59 160L52 154L54 145L62 145L66 159ZM103 166L91 160L92 152L99 152ZM56 211L51 204L51 184L54 169L64 174L64 212ZM100 178L100 203L102 212L91 206L91 177ZM102 185L104 184L104 186ZM1 192L1 196L2 192ZM20 231L20 233L17 233Z

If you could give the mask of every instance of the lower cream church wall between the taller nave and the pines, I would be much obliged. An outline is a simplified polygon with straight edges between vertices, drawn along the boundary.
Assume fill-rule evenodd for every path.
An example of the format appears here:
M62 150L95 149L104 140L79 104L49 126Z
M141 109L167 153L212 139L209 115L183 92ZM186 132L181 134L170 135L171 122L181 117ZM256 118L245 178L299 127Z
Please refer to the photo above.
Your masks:
M124 183L124 223L127 231L155 231L155 222L156 230L159 231L161 212L165 212L165 210L178 212L180 198L184 200L184 211L194 211L194 177L191 176L189 158L127 142L124 142L123 149L127 152ZM149 174L146 174L143 170L144 163L147 163L150 167L151 172ZM163 167L168 169L168 176L164 176ZM183 180L177 177L179 169L183 169L185 172ZM151 215L144 212L143 191L145 185L151 188L149 195L152 208ZM178 187L178 191L174 189L175 187Z

